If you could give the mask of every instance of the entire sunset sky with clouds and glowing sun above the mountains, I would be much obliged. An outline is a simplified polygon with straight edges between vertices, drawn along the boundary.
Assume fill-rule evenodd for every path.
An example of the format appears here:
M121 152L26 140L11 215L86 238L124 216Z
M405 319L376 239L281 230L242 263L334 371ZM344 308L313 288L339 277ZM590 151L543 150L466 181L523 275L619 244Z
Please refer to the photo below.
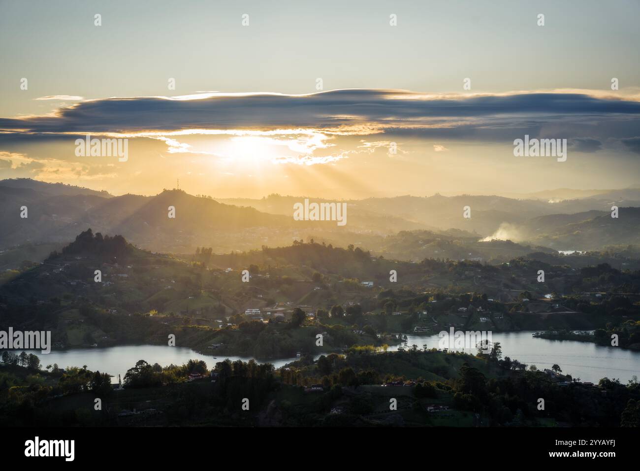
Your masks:
M0 178L335 199L638 186L639 13L1 0ZM126 159L78 155L86 135ZM525 135L566 139L566 160L515 156Z

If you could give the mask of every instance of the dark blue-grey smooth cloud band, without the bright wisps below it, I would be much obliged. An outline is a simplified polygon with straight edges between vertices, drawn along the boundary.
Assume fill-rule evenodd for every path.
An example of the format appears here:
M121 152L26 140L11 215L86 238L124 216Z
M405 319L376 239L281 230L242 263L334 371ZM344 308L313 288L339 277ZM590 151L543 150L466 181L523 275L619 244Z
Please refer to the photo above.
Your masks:
M206 94L88 100L53 116L0 119L7 131L127 133L184 129L518 128L564 120L640 118L633 100L569 93L420 95L404 90L333 90L310 95ZM573 136L571 136L573 137Z

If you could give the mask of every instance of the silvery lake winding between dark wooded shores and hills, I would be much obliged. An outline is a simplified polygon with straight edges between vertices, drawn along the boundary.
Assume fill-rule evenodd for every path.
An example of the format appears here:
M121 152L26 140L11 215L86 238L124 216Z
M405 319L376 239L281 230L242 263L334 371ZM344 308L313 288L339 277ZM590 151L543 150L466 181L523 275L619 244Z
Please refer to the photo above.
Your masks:
M502 356L509 356L527 365L536 365L538 369L551 368L557 363L564 374L571 374L582 381L597 383L602 377L609 379L618 378L622 383L627 383L632 376L640 376L640 352L623 350L616 347L601 347L595 343L575 342L572 340L547 340L533 338L532 332L493 333L492 341L500 342ZM428 348L438 348L437 335L407 335L408 342L404 345L392 345L390 351L398 347L410 347L415 344L422 349L422 345ZM60 368L82 367L86 365L92 371L100 370L113 376L112 381L118 381L118 374L124 379L129 368L136 361L144 359L148 363L159 363L163 367L173 363L182 365L189 359L202 359L208 368L214 367L218 361L229 358L231 361L241 359L248 361L250 357L240 356L214 356L203 355L187 347L165 347L163 345L120 345L104 349L71 349L68 351L52 351L42 354L40 351L28 351L40 357L42 367L58 363ZM476 354L476 349L467 353ZM317 356L316 356L317 358ZM296 358L271 359L276 368L286 363L295 361ZM267 363L258 360L258 363Z

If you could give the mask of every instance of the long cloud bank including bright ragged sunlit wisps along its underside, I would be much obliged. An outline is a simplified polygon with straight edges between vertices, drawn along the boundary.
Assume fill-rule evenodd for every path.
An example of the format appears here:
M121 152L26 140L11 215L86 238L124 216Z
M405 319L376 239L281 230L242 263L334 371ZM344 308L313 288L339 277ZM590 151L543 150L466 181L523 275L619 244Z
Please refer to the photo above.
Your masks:
M65 99L52 95L41 99ZM308 95L206 94L127 97L79 101L45 116L0 118L0 145L74 136L116 135L164 140L169 153L207 154L179 136L260 136L278 141L304 158L300 163L346 158L318 156L327 140L378 135L362 151L399 139L511 143L531 138L566 138L574 151L594 153L603 142L621 141L640 153L640 101L584 91L503 94L419 94L406 90L332 90ZM384 135L383 138L381 136ZM589 136L589 137L585 137ZM361 141L361 142L369 142ZM296 147L296 149L294 149ZM297 149L300 147L300 149ZM447 151L445 142L433 147ZM213 156L218 154L213 153ZM290 161L291 155L277 161Z

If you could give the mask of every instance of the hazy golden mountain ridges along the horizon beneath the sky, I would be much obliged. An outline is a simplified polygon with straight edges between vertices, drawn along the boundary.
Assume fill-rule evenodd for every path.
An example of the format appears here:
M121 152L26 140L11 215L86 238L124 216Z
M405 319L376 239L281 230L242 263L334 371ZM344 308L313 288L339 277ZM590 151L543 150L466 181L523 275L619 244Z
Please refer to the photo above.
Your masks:
M614 193L623 197L639 193L640 197L640 190L628 188L557 202L439 194L346 200L347 225L338 227L332 221L294 220L293 205L305 197L272 194L262 199L212 199L182 190L164 190L155 196L113 196L60 183L9 179L0 181L0 249L67 242L83 227L92 227L95 233L122 234L145 249L181 253L203 246L216 253L247 251L310 238L412 259L440 253L455 258L470 254L476 254L473 258L502 258L545 247L594 250L603 245L637 244L635 210L640 201L613 200ZM627 210L611 222L613 204ZM28 208L28 218L20 217L23 206ZM175 208L175 218L169 217L170 207ZM467 207L470 218L463 217ZM397 239L404 248L393 247L388 236L403 231L431 235L418 232L415 242ZM421 237L427 239L423 244ZM478 245L492 238L512 240L516 245Z

